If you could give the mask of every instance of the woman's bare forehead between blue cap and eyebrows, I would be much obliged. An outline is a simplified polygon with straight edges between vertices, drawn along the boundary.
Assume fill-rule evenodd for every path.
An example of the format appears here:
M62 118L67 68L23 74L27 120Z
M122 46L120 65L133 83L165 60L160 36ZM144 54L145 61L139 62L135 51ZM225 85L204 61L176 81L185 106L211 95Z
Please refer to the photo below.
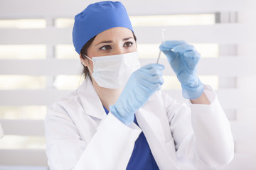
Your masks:
M133 37L132 30L124 27L115 27L99 33L95 41L123 39L128 37Z

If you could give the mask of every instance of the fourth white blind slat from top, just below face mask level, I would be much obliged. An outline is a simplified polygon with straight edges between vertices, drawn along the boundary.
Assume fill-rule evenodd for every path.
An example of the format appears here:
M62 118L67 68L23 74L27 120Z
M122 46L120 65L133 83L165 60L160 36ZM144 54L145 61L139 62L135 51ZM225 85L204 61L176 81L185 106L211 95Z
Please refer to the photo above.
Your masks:
M24 105L49 105L58 101L61 97L70 94L69 90L11 90L0 91L1 106L24 106ZM178 101L184 101L181 96L181 90L166 90L172 98ZM256 91L248 89L219 89L216 91L223 108L251 108L255 106ZM25 97L26 96L26 97ZM234 97L235 96L235 97ZM36 100L35 100L36 98ZM246 101L245 98L251 98Z

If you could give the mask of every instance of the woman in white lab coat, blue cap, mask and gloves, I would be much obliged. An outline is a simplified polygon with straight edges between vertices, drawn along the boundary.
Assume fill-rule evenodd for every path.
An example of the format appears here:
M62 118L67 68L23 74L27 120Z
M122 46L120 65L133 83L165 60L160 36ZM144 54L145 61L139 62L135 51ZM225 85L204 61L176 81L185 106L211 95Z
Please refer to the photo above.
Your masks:
M196 75L200 55L183 41L160 49L191 107L160 91L161 64L139 67L120 2L90 4L75 16L73 44L85 81L46 115L50 169L218 169L233 159L230 124Z

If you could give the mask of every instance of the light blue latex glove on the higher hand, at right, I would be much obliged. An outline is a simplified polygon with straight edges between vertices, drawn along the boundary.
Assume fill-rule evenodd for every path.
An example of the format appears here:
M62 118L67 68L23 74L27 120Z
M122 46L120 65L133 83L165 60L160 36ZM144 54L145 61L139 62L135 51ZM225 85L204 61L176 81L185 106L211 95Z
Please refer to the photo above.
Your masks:
M194 99L201 96L204 87L196 74L196 65L201 55L193 45L184 41L165 41L159 48L181 82L183 97Z

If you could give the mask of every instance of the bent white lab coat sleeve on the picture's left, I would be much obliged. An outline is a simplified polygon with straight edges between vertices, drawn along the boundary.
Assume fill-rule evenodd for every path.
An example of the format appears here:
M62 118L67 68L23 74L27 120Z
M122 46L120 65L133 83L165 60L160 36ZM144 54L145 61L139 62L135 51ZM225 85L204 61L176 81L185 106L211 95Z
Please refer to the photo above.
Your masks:
M125 169L141 130L128 127L109 113L89 142L65 110L50 108L45 119L46 154L50 169Z

